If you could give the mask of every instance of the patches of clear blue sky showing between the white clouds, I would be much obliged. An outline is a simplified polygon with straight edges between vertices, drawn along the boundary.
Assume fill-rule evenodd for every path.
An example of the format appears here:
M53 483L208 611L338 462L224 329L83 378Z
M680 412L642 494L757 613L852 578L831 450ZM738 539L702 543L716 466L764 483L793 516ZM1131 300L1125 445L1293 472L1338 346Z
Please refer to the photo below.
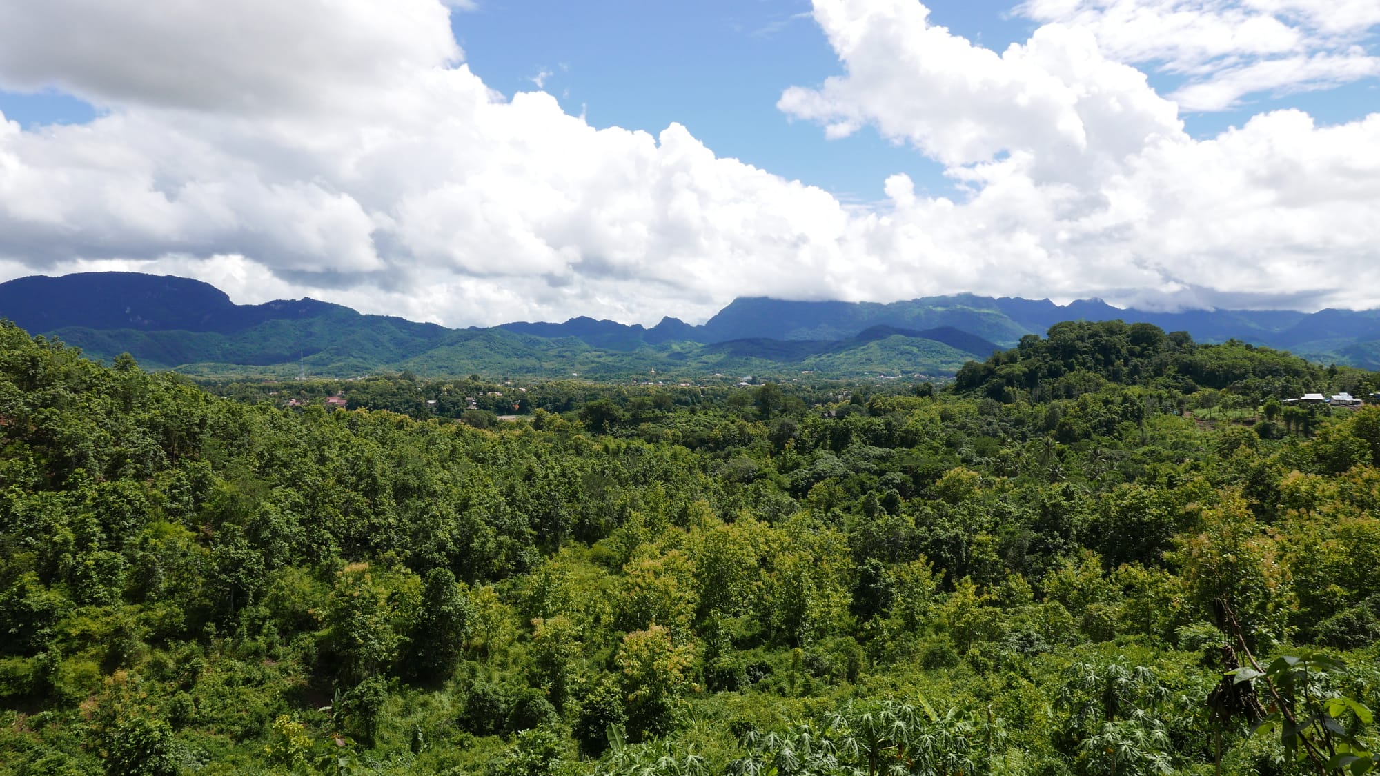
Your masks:
M934 0L931 21L1003 51L1038 26L1006 0ZM856 133L825 139L792 122L776 102L791 86L814 86L840 65L810 18L807 0L487 0L451 17L466 62L506 95L544 88L596 127L660 133L678 122L720 156L818 185L846 202L882 197L887 175L905 173L920 192L952 195L943 167L915 149ZM1369 43L1374 50L1374 40ZM1162 93L1183 81L1150 70ZM534 83L538 79L542 87ZM1374 80L1337 88L1253 95L1236 110L1184 113L1194 137L1241 126L1250 116L1300 108L1319 122L1355 120L1380 105ZM0 112L25 127L83 123L99 113L54 88L0 90Z

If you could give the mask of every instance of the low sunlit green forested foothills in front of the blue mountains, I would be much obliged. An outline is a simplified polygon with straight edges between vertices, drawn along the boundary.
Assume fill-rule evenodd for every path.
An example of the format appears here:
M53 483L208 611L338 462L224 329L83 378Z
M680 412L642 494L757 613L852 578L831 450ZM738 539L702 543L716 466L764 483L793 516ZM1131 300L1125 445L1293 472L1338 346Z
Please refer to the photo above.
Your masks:
M357 313L353 315L357 318ZM784 377L800 371L862 377L878 373L894 376L903 370L952 376L967 359L992 352L991 348L960 351L922 333L886 327L839 341L660 342L614 349L593 347L574 337L545 338L504 329L460 330L424 340L397 333L386 324L352 326L352 320L341 315L306 322L270 322L233 334L59 329L52 336L106 360L113 360L127 347L145 362L197 378L291 378L302 370L333 377L408 370L425 374L480 371L548 380L571 374L617 380L657 373L693 378L713 373ZM959 342L978 340L967 336L952 338ZM312 342L312 347L299 349L304 342Z

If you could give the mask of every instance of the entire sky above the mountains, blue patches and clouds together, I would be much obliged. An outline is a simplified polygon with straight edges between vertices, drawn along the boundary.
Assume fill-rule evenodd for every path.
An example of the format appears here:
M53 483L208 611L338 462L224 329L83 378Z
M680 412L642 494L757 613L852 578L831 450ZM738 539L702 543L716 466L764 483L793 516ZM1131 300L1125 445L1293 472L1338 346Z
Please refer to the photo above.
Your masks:
M1380 307L1376 0L0 0L0 280Z

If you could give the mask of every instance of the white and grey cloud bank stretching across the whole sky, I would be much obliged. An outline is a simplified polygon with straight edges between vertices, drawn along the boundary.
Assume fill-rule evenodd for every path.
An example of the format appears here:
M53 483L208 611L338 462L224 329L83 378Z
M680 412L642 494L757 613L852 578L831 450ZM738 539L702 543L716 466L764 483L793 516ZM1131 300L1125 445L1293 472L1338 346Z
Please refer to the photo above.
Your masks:
M0 87L103 110L0 117L0 276L166 272L240 302L313 295L453 326L696 319L749 294L1380 305L1380 115L1283 110L1194 139L1181 95L1134 66L1216 62L1183 91L1230 102L1281 80L1250 68L1299 36L1358 40L1370 3L1340 18L1232 4L1264 21L1223 52L1118 37L1118 14L1172 17L1167 0L1036 0L1023 12L1049 23L995 52L914 0L816 0L842 73L780 109L829 137L878 131L959 185L919 196L894 175L868 207L718 157L679 124L596 130L544 93L497 94L464 64L455 4L193 6L0 10ZM1311 55L1314 77L1337 77L1332 50Z

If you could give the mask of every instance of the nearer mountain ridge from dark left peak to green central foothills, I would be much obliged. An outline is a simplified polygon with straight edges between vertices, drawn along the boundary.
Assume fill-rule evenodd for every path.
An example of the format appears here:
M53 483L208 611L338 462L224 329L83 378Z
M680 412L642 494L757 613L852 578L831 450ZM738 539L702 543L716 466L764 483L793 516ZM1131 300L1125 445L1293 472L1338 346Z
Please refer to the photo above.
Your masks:
M12 315L22 327L58 337L92 358L110 362L128 352L149 367L200 377L304 371L353 377L389 370L546 378L571 373L628 378L653 371L664 377L952 374L995 347L936 329L874 331L785 348L766 340L716 348L693 341L686 334L691 327L669 319L653 330L591 319L451 330L315 300L235 305L206 283L119 272L0 284L0 315Z

